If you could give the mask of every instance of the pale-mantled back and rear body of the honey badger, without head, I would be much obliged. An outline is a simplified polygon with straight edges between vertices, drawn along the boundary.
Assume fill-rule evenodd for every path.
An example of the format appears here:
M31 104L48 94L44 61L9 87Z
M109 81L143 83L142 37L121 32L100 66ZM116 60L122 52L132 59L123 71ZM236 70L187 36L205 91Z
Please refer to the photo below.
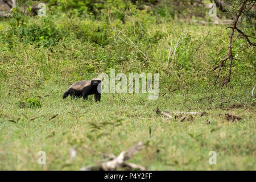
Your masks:
M75 96L75 97L82 97L82 89L85 88L85 86L90 85L90 80L82 80L77 81L73 83L71 86L69 86L67 92L63 94L63 98L68 97L69 95Z

